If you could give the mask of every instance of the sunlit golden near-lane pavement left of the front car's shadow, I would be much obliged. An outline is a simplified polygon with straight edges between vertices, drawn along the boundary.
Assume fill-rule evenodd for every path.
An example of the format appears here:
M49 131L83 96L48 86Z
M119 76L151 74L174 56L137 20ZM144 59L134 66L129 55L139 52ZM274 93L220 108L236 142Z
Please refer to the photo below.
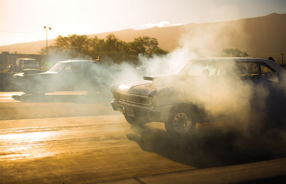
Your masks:
M1 121L0 183L88 183L194 168L142 150L128 140L130 126L123 115ZM168 137L162 123L146 128Z

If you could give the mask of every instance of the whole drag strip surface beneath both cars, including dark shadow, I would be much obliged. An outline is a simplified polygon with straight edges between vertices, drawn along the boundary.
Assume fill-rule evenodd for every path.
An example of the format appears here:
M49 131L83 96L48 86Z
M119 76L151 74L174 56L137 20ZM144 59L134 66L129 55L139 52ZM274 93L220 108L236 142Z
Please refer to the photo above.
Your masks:
M285 183L284 129L249 134L237 122L211 122L197 124L190 139L176 140L163 123L129 125L121 113L112 110L110 101L111 97L100 93L55 92L32 97L1 92L0 183L120 183L118 179L125 179L123 183L174 183L164 174L177 176L177 181L185 176L207 178L207 183L276 177ZM234 170L240 180L228 180L230 167L248 168L248 172ZM270 169L268 175L249 173L259 168ZM224 182L213 177L220 176L220 171ZM157 178L146 178L150 175ZM252 175L256 177L251 179Z

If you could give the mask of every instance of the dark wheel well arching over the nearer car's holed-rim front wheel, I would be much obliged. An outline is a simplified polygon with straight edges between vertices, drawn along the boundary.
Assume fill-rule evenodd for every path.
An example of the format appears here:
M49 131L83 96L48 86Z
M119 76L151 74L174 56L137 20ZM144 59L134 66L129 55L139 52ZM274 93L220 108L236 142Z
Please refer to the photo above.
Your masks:
M198 110L198 108L194 105L194 104L180 104L180 105L174 105L169 112L169 117L168 117L168 121L170 120L171 114L177 110L178 108L184 108L185 110L187 110L188 112L190 112L190 114L192 114L194 121L196 123L202 123L203 122L203 118L200 114L200 111Z

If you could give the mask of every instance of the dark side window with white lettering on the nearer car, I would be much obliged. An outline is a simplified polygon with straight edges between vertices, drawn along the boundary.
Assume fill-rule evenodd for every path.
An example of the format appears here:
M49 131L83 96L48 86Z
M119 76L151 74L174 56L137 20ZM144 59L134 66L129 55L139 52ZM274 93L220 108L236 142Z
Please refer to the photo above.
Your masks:
M232 66L232 76L242 80L256 79L259 76L258 66L259 63L255 62L234 63Z

